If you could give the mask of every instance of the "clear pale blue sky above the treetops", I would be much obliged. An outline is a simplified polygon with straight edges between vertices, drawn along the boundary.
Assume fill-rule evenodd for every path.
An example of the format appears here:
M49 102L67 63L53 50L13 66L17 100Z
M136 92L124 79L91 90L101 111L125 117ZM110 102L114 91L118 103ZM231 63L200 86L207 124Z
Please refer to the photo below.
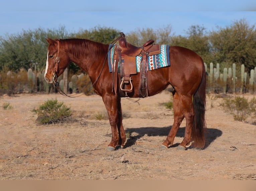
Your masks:
M138 28L159 29L167 25L175 35L186 35L191 25L204 26L208 31L216 30L217 26L230 26L240 19L246 19L250 26L256 25L253 11L256 11L256 1L252 0L9 0L0 7L0 36L39 27L65 26L68 32L77 32L100 26L127 34Z

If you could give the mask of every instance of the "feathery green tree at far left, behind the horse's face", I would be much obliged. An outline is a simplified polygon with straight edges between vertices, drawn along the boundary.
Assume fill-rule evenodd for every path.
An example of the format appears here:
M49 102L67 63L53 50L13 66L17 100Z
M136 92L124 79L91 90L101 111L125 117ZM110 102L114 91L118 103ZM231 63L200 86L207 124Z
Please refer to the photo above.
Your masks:
M65 38L68 33L65 27L58 30L43 30L38 28L34 31L22 31L20 34L0 37L0 70L6 68L11 71L19 71L21 68L28 70L35 67L42 70L45 68L47 42L46 37Z

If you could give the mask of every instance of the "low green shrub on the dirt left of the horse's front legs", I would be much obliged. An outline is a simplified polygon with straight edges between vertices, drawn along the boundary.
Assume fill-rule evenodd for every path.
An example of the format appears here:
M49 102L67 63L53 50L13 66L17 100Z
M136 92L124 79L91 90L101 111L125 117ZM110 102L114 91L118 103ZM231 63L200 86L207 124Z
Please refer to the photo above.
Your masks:
M45 101L38 109L34 109L33 112L38 115L38 122L40 124L57 123L67 119L72 111L63 102L57 101L57 99L50 99Z

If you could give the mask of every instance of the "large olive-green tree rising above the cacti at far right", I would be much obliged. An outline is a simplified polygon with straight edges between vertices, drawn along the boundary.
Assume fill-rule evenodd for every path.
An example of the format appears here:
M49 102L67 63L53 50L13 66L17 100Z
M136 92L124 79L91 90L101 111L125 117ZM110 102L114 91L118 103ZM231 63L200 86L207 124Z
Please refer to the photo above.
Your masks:
M256 63L256 30L245 19L235 21L231 26L219 27L210 34L212 54L219 63L244 64L247 72Z

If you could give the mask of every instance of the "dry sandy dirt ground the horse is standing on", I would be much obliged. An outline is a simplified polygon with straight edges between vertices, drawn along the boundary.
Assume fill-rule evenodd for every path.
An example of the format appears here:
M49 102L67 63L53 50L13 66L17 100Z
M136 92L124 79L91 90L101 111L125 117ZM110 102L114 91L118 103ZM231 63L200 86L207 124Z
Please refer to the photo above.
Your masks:
M245 95L253 97L253 95ZM47 99L63 101L73 121L37 125L31 110ZM204 150L178 150L183 120L169 149L160 149L173 123L162 103L170 93L122 98L124 149L107 151L111 128L102 98L81 95L20 94L0 97L1 180L255 180L255 119L239 122L224 112L222 98L207 95L207 143ZM137 102L136 102L137 101ZM12 108L4 109L10 103ZM103 118L102 120L97 119Z

